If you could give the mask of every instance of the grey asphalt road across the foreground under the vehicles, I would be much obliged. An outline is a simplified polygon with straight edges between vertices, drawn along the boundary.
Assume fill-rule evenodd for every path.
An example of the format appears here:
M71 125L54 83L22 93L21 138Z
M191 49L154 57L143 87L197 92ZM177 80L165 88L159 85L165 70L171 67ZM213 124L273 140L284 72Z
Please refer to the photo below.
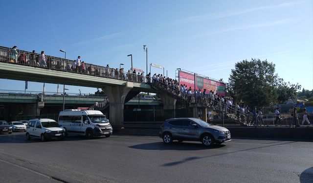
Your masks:
M27 141L0 135L0 183L313 183L313 142L163 144L153 136Z

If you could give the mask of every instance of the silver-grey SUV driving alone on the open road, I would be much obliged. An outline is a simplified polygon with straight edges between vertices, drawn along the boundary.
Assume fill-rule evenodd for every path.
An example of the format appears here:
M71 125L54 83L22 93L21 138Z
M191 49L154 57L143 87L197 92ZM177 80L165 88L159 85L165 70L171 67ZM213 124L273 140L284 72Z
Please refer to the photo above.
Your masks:
M231 141L230 132L227 128L216 126L197 118L174 118L166 120L161 125L159 137L169 144L173 140L200 141L205 146L213 143L221 144Z

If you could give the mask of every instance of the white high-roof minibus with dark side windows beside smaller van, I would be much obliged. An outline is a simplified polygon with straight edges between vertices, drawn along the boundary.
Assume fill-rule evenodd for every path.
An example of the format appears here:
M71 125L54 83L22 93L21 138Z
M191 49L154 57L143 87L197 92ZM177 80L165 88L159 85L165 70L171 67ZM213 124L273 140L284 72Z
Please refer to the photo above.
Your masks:
M106 136L113 133L112 125L101 111L67 109L59 114L58 123L66 134L83 135L87 138Z

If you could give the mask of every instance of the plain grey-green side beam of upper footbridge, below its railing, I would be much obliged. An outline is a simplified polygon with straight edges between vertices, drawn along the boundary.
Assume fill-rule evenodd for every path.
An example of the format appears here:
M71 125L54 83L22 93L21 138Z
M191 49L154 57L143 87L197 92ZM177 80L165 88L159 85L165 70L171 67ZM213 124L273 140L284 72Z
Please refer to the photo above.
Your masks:
M75 86L103 88L104 86L126 86L129 81L91 76L74 72L58 71L28 65L0 62L0 78L10 80L35 81ZM149 84L134 82L134 91L157 93Z

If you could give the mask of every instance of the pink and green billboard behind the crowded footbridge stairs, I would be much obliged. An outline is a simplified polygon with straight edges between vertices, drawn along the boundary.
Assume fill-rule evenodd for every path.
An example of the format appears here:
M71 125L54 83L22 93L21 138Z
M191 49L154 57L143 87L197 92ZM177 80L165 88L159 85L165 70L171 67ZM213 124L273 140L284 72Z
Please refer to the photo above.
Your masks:
M179 71L179 85L185 84L187 88L191 86L192 89L195 87L195 80L194 75ZM203 92L204 89L206 89L207 92L213 91L214 93L217 93L218 95L225 96L225 88L226 84L218 81L213 81L201 76L196 75L196 89L200 89L201 92Z

